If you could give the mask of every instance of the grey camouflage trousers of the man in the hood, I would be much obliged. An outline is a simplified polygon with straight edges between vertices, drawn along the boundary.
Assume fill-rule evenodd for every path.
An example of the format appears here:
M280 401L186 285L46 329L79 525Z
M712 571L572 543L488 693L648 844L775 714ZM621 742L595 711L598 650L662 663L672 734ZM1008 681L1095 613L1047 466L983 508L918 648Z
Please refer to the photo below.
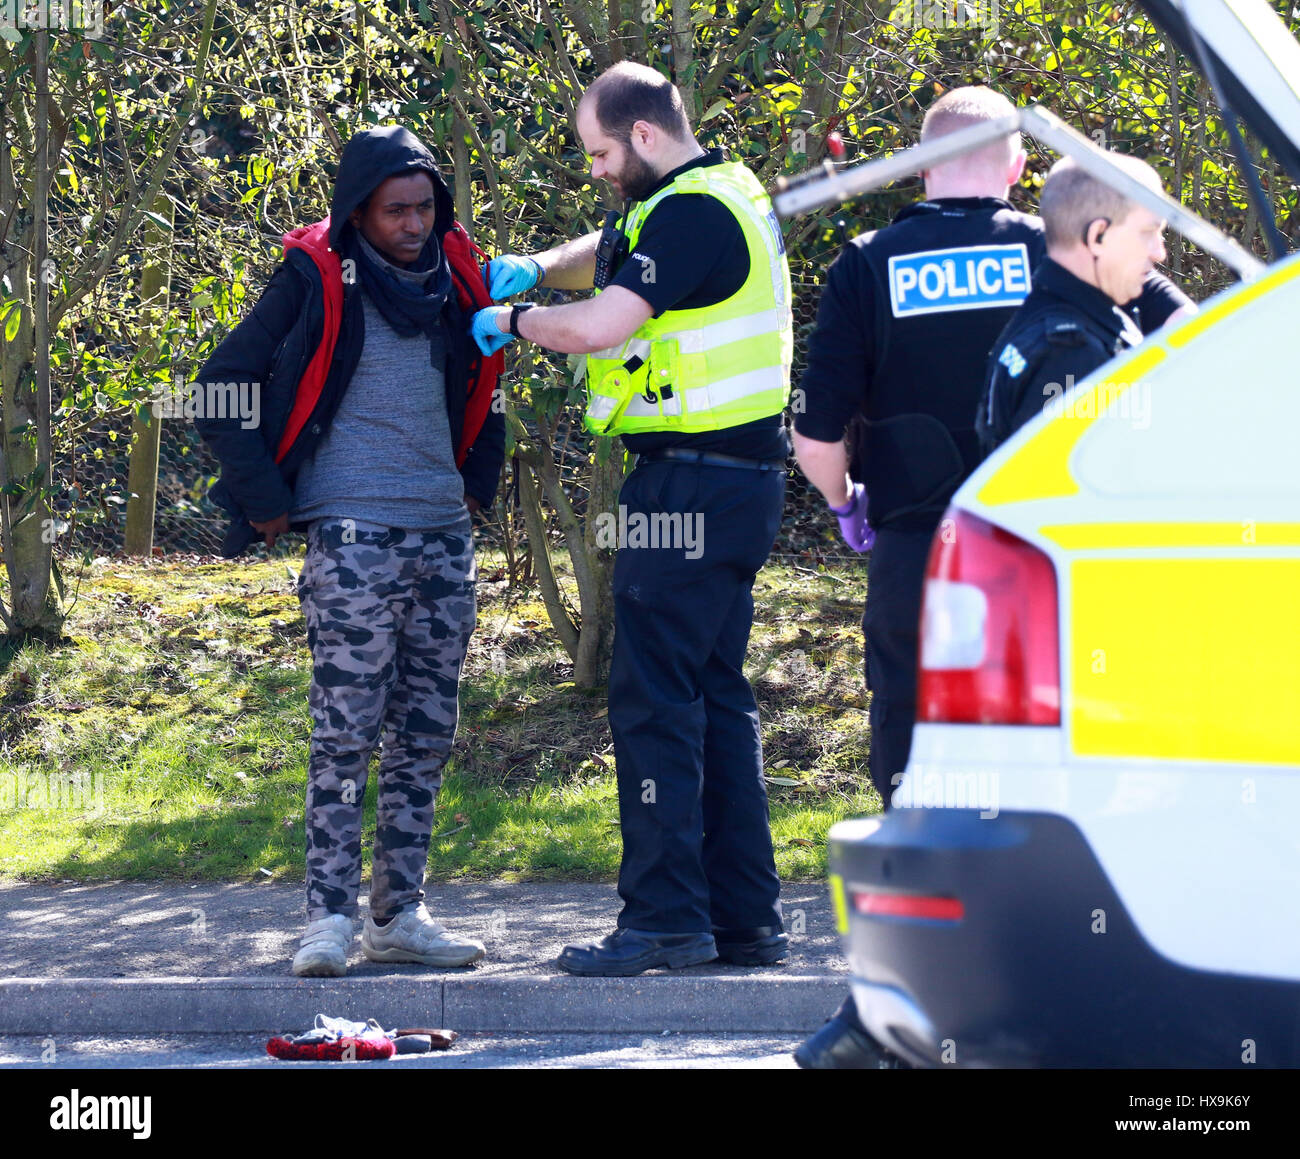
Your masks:
M361 804L377 745L370 913L382 920L424 897L434 802L477 612L474 578L468 516L451 531L339 518L308 530L298 580L312 650L308 921L356 913Z

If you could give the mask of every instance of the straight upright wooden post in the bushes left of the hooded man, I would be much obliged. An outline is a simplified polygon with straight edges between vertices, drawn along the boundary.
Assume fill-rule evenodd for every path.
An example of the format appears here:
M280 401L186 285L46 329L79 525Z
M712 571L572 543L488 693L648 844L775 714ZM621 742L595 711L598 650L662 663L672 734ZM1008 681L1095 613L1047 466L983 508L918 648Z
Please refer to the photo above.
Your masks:
M143 335L151 331L155 350L162 351L162 331L166 327L168 300L172 288L172 229L174 220L172 199L159 194L153 212L168 222L162 229L153 218L146 218L143 252L148 265L140 274L140 305L146 325ZM155 359L156 361L156 359ZM157 408L161 411L162 408ZM148 412L146 411L146 414ZM131 421L131 466L126 490L126 554L148 556L153 552L153 512L159 491L159 444L162 438L162 416L150 414L142 421L139 413Z

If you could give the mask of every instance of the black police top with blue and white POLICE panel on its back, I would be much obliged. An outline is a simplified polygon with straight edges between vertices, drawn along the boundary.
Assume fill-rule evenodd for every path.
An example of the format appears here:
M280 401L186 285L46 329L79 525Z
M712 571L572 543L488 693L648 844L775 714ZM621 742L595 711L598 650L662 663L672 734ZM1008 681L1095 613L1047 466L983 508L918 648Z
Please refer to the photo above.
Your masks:
M1044 253L1043 223L1009 201L944 197L854 238L831 266L794 422L835 442L857 413L874 528L933 528L979 464L988 352Z

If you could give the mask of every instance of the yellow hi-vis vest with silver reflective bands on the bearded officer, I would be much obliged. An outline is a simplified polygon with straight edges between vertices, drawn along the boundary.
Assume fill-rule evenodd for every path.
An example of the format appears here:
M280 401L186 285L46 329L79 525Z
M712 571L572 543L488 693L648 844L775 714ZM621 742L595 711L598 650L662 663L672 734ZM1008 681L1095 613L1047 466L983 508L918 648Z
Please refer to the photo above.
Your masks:
M725 301L664 311L621 347L588 355L585 422L595 434L720 430L779 414L789 400L790 268L771 200L737 161L688 169L636 208L629 249L650 210L673 194L708 194L731 209L745 233L749 277ZM642 277L653 278L653 268Z

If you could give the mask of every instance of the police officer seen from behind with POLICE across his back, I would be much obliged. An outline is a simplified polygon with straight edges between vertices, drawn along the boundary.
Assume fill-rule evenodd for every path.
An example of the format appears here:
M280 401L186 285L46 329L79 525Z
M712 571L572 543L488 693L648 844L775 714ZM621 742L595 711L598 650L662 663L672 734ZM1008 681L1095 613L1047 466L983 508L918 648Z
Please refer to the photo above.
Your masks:
M922 123L933 140L1014 114L989 88L954 88ZM1028 296L1043 222L1006 200L1024 170L1019 134L922 173L926 200L845 247L827 274L794 408L800 466L871 550L862 617L871 691L871 778L884 808L911 748L920 598L930 543L982 459L975 430L989 350ZM1150 274L1127 309L1154 330L1191 300ZM844 435L855 420L854 477ZM805 1068L897 1064L853 998L794 1054Z

